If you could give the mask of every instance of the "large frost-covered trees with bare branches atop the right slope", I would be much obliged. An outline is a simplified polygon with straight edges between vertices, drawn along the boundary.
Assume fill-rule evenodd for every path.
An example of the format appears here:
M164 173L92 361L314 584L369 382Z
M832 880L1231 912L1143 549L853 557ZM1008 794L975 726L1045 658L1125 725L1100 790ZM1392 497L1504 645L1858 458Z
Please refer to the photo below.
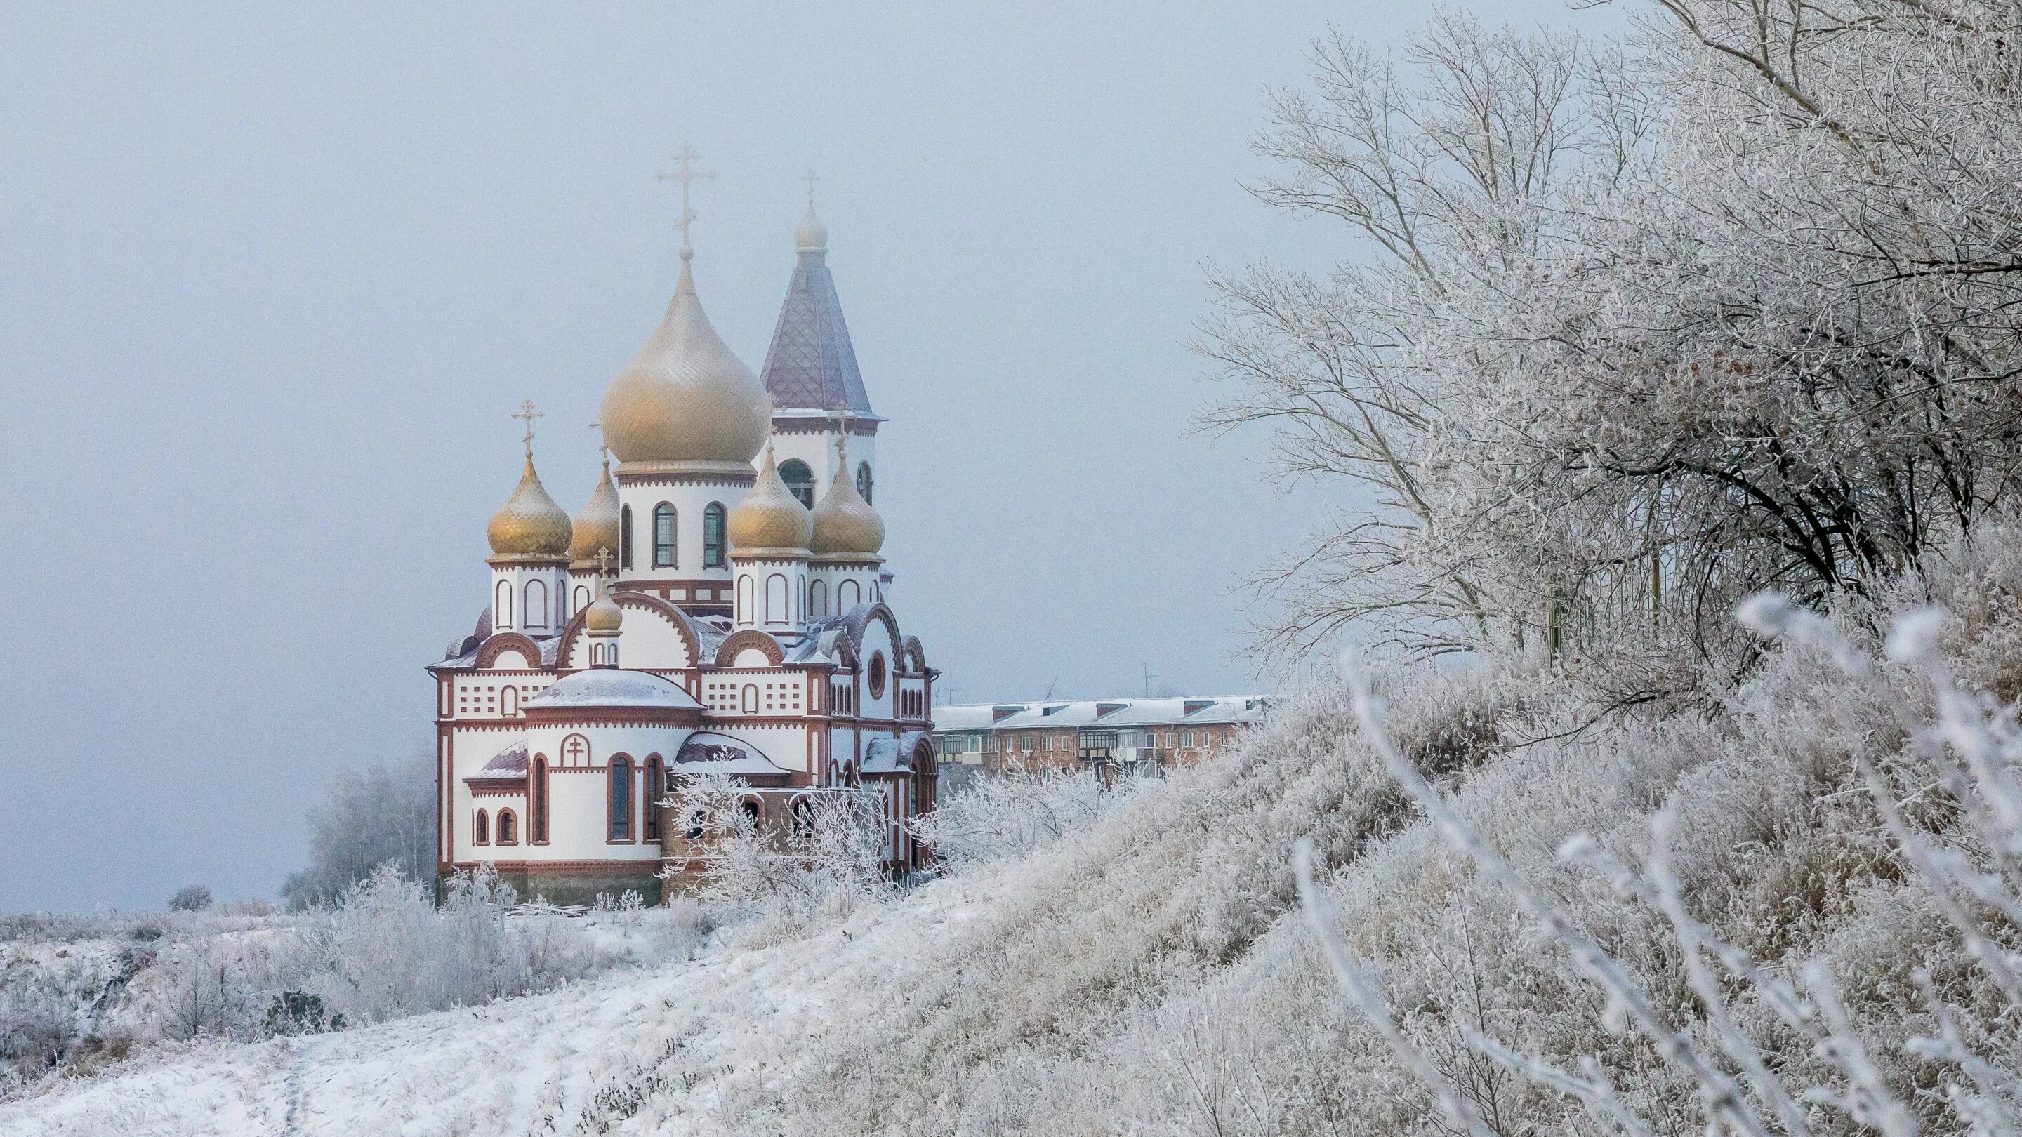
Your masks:
M1743 595L1868 589L2010 500L2012 28L1664 0L1626 47L1318 45L1260 194L1361 253L1217 277L1199 348L1239 386L1205 425L1367 504L1258 577L1260 643L1543 643L1634 698L1745 658Z

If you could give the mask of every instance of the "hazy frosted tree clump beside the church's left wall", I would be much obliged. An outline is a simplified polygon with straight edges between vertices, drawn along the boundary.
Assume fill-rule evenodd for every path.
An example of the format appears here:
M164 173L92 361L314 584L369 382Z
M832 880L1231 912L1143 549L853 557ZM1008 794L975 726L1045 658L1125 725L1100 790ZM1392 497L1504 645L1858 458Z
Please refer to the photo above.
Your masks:
M435 769L427 755L344 771L309 807L309 866L289 874L293 908L334 904L392 864L402 880L435 880Z

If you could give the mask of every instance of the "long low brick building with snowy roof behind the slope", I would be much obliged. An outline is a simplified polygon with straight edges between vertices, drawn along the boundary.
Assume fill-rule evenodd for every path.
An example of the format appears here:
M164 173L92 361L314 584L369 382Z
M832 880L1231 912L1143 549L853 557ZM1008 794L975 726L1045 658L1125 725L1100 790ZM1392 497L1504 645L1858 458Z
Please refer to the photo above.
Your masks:
M1197 763L1264 718L1270 696L977 702L934 708L942 771Z

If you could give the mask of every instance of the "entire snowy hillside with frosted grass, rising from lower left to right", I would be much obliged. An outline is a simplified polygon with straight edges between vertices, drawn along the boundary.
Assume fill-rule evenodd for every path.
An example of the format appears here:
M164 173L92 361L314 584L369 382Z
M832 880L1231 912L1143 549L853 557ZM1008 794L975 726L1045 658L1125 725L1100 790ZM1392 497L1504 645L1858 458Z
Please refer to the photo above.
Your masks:
M1929 583L1957 613L1943 643L1967 680L2014 698L2022 556L1967 560ZM1919 698L1907 674L1885 682ZM1903 1048L1935 1030L1927 995L2000 1008L1856 789L1856 759L1919 777L1903 722L1816 651L1777 649L1721 706L1571 732L1581 700L1521 670L1385 686L1413 763L1690 1036L1709 1028L1662 919L1561 864L1567 836L1640 860L1670 803L1688 906L1775 973L1826 961L1878 1076L1905 1090L1943 1080ZM1500 1119L1492 1131L1583 1115L1482 1060L1474 1034L1565 1064L1591 1054L1638 1113L1701 1129L1688 1078L1610 1022L1563 947L1452 852L1351 722L1345 692L1308 692L1237 753L1120 795L1049 846L772 943L481 1010L194 1046L0 1107L0 1131L1440 1131L1298 919L1288 858L1308 836L1399 1030ZM1911 809L1933 834L1953 823ZM1783 1078L1834 1084L1759 999L1731 997L1735 1030L1775 1046ZM1913 1103L1927 1131L1957 1129L1943 1095Z

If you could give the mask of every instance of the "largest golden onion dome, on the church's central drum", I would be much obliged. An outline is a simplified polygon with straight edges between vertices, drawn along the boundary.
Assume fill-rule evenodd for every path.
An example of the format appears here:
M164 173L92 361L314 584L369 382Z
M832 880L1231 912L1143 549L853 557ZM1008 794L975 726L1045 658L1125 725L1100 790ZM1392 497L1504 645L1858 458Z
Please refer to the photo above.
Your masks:
M770 429L764 386L696 299L690 249L653 338L605 388L599 421L619 461L750 461ZM623 467L621 467L623 473Z

